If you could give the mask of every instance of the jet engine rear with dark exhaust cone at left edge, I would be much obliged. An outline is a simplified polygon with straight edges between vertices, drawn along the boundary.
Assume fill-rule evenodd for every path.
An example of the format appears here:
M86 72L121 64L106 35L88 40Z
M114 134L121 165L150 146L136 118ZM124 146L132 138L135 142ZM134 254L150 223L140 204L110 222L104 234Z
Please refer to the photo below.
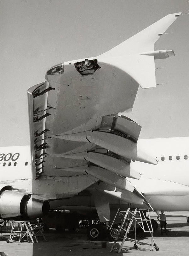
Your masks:
M30 220L49 213L49 202L31 197L31 194L12 190L4 186L0 190L0 218Z

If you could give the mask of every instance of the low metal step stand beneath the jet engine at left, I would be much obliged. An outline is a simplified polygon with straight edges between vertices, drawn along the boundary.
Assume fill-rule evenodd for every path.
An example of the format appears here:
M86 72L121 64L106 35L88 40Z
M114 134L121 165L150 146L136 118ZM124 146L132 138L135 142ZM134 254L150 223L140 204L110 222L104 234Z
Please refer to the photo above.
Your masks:
M38 243L37 234L42 233L43 226L36 221L13 221L12 229L7 242L32 242ZM43 239L45 237L43 235Z

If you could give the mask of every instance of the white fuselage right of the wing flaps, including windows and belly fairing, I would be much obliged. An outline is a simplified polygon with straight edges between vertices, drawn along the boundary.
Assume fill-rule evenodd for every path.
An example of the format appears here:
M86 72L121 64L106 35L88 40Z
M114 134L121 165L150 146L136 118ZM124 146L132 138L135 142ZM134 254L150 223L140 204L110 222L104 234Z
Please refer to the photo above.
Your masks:
M156 166L132 161L142 176L131 182L156 210L189 210L189 137L145 139L137 144L155 154L159 162Z

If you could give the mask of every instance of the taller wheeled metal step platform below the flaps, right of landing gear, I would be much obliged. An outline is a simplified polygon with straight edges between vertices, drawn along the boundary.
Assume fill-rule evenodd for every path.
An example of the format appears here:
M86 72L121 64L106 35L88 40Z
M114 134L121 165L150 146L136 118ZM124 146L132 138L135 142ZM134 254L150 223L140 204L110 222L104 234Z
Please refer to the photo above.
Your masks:
M135 249L138 248L137 244L141 244L141 245L152 246L152 251L153 251L153 247L155 247L156 251L159 251L159 247L157 247L157 245L156 245L156 243L153 239L153 228L152 228L152 223L151 223L148 208L128 208L127 211L120 211L118 209L117 213L115 215L115 218L112 222L112 225L110 226L110 230L114 229L114 228L112 228L113 224L117 224L115 222L117 217L120 218L121 225L118 226L119 227L118 228L118 233L117 233L116 239L115 239L115 241L112 245L112 248L111 248L110 252L112 252L115 249L117 253L120 253L125 241L134 242L134 248ZM132 225L133 222L134 222L134 225ZM150 233L151 234L151 239L152 239L151 244L136 240L136 224L138 224L140 226L140 228L143 230L144 233ZM127 237L130 230L131 231L135 230L135 239ZM120 237L121 232L125 233L123 237ZM122 239L121 245L119 245L117 243L117 240L119 238Z

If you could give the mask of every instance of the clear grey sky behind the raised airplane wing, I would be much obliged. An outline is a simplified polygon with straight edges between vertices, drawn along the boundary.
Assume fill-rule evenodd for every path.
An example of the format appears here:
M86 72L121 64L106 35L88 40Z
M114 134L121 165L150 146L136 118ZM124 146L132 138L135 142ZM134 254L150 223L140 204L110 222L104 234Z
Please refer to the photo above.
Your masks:
M1 0L0 147L29 145L27 89L58 63L100 55L176 12L188 0ZM139 88L131 113L140 138L189 136L189 15L155 44L175 57L156 61L153 89Z

